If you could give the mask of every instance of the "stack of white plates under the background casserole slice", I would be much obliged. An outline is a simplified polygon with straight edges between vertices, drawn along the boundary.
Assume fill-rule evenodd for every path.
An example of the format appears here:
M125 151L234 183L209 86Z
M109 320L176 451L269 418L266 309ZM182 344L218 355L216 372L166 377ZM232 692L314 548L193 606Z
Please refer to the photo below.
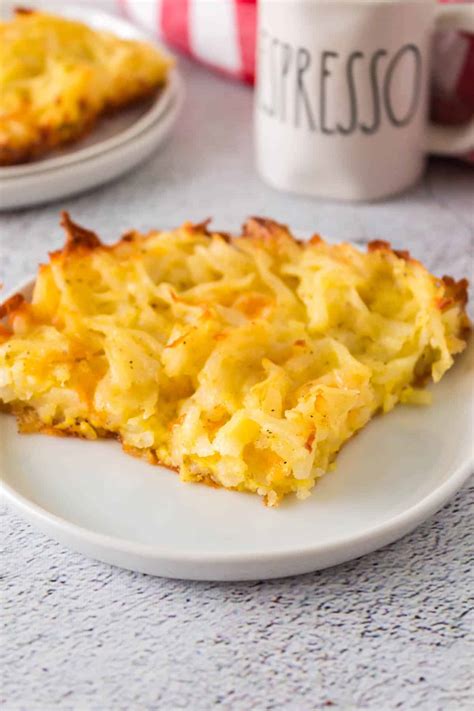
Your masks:
M120 37L150 41L130 23L104 12L68 7L60 13ZM167 138L183 95L181 77L173 69L153 100L102 119L88 136L66 149L31 163L0 168L0 209L79 193L140 165Z

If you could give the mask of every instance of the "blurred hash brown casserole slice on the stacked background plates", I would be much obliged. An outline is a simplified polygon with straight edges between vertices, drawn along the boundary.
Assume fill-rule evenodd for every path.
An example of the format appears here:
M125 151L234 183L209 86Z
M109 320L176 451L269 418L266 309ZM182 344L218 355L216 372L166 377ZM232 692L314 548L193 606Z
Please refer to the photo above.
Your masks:
M75 141L104 113L152 96L171 64L145 42L17 10L0 21L0 165Z

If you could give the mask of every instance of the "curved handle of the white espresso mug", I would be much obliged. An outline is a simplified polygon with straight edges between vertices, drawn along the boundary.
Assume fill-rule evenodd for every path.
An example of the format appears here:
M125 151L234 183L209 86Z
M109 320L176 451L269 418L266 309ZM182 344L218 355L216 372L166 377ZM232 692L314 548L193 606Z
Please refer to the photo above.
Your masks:
M474 5L438 5L436 30L459 30L474 34ZM458 155L474 149L474 118L460 126L428 124L426 150L437 155Z

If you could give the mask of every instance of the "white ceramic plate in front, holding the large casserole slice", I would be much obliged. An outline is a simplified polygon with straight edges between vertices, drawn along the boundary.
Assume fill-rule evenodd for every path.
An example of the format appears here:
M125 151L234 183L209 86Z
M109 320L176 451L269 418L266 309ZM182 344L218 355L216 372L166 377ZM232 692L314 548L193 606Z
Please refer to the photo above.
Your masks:
M4 492L52 538L140 572L244 580L335 565L400 538L468 478L473 356L471 339L431 407L399 406L369 423L306 501L266 509L256 496L183 484L113 441L18 435L0 414Z

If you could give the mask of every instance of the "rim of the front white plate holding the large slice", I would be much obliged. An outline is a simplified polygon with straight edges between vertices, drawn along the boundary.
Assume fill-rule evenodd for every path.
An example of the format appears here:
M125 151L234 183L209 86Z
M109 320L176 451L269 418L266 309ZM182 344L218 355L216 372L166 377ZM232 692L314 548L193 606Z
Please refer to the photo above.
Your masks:
M25 280L16 288L9 290L6 298L15 293L31 294L34 283L34 277ZM474 336L472 332L468 337L467 348L461 355L464 355L464 357L468 355L471 355L472 357L474 355ZM162 545L138 543L125 538L120 538L118 536L99 533L80 526L79 524L73 523L68 519L62 518L61 516L48 511L39 504L28 499L3 479L2 468L2 463L0 461L0 491L5 495L6 499L16 510L24 513L29 520L38 521L40 524L44 524L44 528L42 527L42 530L45 530L45 528L47 528L48 531L53 529L68 535L69 540L72 539L74 541L81 541L82 543L92 546L95 549L95 553L92 554L93 557L96 555L98 559L104 560L104 558L101 558L101 556L97 554L97 551L107 550L115 555L119 554L122 556L133 556L135 559L138 558L140 560L153 561L155 563L175 563L181 566L186 564L192 566L201 563L212 567L222 566L226 563L233 566L246 564L254 565L258 562L284 564L285 561L294 561L295 559L304 559L309 561L317 558L321 554L332 554L334 559L338 559L339 562L344 562L359 557L360 555L365 555L367 552L377 550L390 542L398 540L398 538L403 537L407 532L413 530L413 528L415 528L419 523L425 521L436 511L438 511L462 488L462 486L474 473L474 451L470 457L466 457L466 459L451 472L446 481L439 484L439 486L430 491L430 493L424 496L420 501L413 504L413 506L410 506L408 509L405 509L404 511L387 519L386 521L364 530L356 536L343 536L331 541L330 543L312 543L308 546L299 546L298 548L280 548L278 551L267 552L232 551L220 553L205 550L194 552L173 551L167 546L163 547ZM353 555L351 553L351 549L354 548L357 550L362 549L365 552ZM347 552L346 557L344 555L344 551ZM342 554L342 558L340 554ZM120 563L115 564L120 565ZM321 567L327 567L335 564L337 563L328 563L327 565ZM128 566L123 564L122 567ZM131 569L136 568L132 567ZM311 565L309 565L307 571L311 569L315 570L315 568L311 568ZM280 575L282 574L279 573L278 576ZM187 576L188 574L168 577L179 578ZM267 577L272 576L263 575L263 578ZM189 579L217 580L224 578L221 577L221 575L216 578L205 575L202 578L200 576L198 576L198 578L195 576L189 576ZM232 578L232 576L226 576L225 579L243 578ZM250 579L255 579L255 577Z

